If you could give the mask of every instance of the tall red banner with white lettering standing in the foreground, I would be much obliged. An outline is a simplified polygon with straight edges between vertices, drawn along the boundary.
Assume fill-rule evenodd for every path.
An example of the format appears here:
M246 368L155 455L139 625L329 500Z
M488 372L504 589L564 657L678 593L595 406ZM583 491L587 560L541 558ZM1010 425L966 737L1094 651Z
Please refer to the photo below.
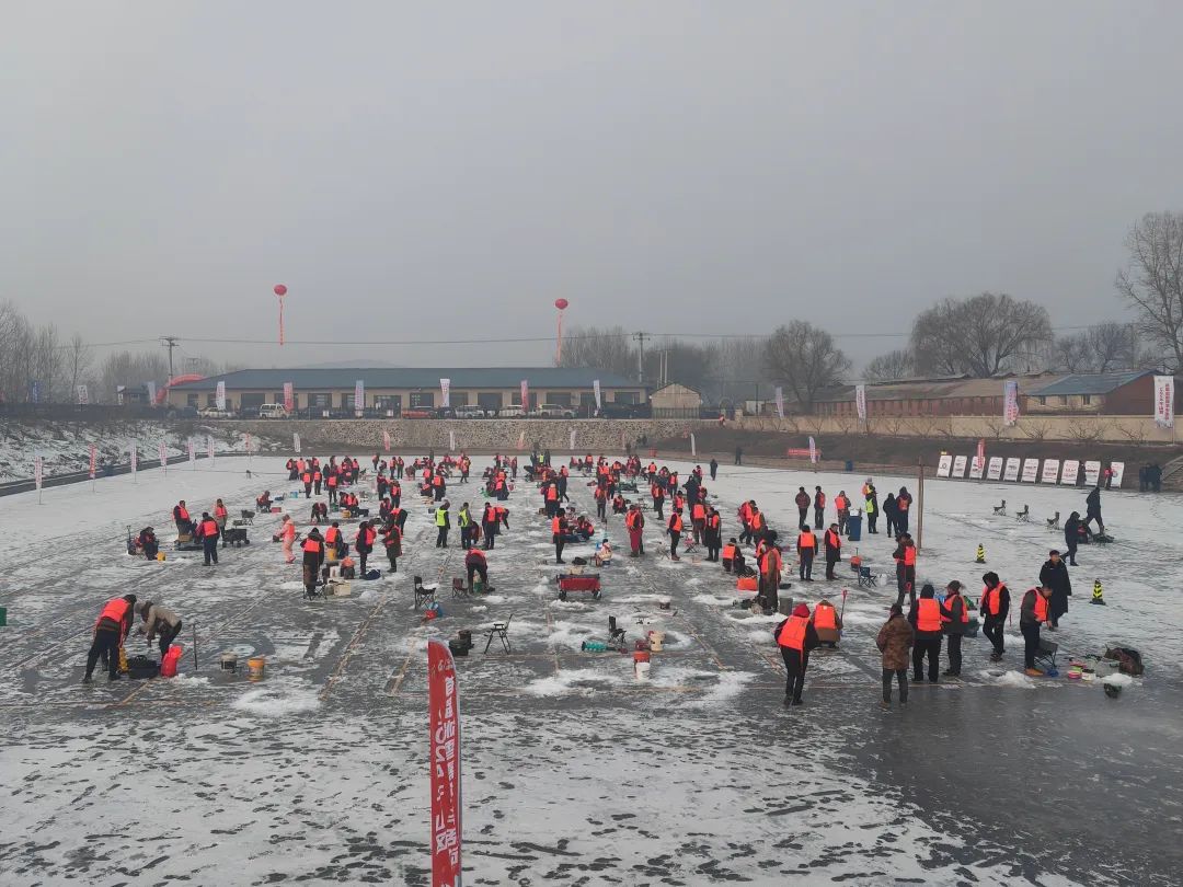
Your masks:
M460 706L445 641L427 642L432 769L432 887L460 887Z

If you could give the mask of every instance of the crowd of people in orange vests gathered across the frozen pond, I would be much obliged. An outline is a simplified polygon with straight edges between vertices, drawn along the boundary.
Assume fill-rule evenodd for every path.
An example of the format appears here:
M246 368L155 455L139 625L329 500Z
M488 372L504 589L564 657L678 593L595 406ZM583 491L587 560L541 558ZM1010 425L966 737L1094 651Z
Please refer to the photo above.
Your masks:
M737 464L738 457L737 453ZM327 563L335 565L344 578L376 577L376 571L368 568L369 557L379 544L386 552L390 571L397 570L397 561L403 556L403 527L407 519L407 512L402 507L403 480L414 485L422 501L432 504L432 519L437 529L435 546L448 548L453 520L447 487L450 483L468 484L471 459L461 453L459 457L446 454L437 460L434 453L431 453L407 465L401 457L384 459L376 453L370 465L375 500L370 499L370 483L364 478L367 472L356 459L344 457L338 461L336 457L331 457L322 462L316 457L292 458L286 464L287 479L302 486L306 500L313 496L321 497L322 492L327 496L327 501L318 499L312 504L310 526L303 538L291 513L282 514L280 529L273 537L282 543L283 556L289 564L296 562L296 544L300 545L303 584L309 596L315 594L318 584L327 581ZM707 467L711 481L716 480L718 468L718 462L712 459ZM780 531L770 525L756 500L748 499L739 505L735 516L738 527L736 535L724 542L723 514L710 500L706 473L700 465L696 465L685 478L680 478L677 470L659 467L654 461L646 465L639 455L609 461L602 455L595 459L590 453L582 458L571 457L568 464L555 468L548 452L532 455L525 477L537 486L542 503L539 512L550 523L556 564L565 563L565 545L586 543L596 536L593 518L577 513L571 504L568 486L573 474L578 474L581 481L592 490L596 506L595 519L606 525L609 522L609 510L613 518L622 519L629 543L629 557L646 556L644 530L646 514L649 513L664 527L662 533L668 538L670 559L679 561L680 550L702 546L705 561L719 563L726 574L736 577L737 588L755 593L750 601L752 611L780 613L778 591L786 569L786 543ZM517 457L494 455L492 465L481 478L485 501L479 512L473 513L467 501L457 512L459 544L466 552L465 568L470 584L474 577L487 584L484 551L493 549L497 536L509 530L509 509L504 503L517 479ZM361 491L363 480L364 492ZM918 550L910 533L914 501L912 494L907 487L900 487L897 492L888 492L880 504L879 492L871 478L865 480L858 493L861 509L856 507L855 500L846 490L839 490L829 499L821 486L815 485L813 493L804 486L799 487L794 497L799 519L791 555L796 557L797 577L801 582L814 581L814 561L822 553L826 562L825 580L836 581L835 566L841 562L842 543L849 533L852 511L865 517L866 531L872 535L879 532L878 520L883 512L885 532L896 540L892 558L897 581L896 601L877 637L877 646L883 654L883 704L891 704L893 685L899 688L899 701L906 704L910 666L916 682L927 680L936 684L940 676L961 676L962 639L969 628L970 614L975 610L981 617L982 634L993 646L990 660L1001 661L1006 653L1003 626L1010 615L1011 595L998 574L989 571L982 576L983 589L976 606L958 581L946 583L940 594L930 583L917 590ZM628 498L627 494L635 498ZM648 500L648 509L644 500ZM371 501L376 507L370 507ZM278 510L270 491L264 491L257 498L256 507L260 512ZM828 525L827 509L834 511L834 519ZM373 518L371 510L376 511ZM206 565L218 564L218 540L225 532L227 514L221 499L214 503L211 511L202 512L200 520L192 518L183 500L173 509L177 537L200 542ZM350 542L345 538L342 522L358 517L362 519ZM1020 630L1024 640L1023 660L1028 675L1042 674L1035 662L1041 630L1045 626L1049 630L1056 630L1059 621L1067 613L1068 598L1072 596L1068 566L1077 564L1079 544L1091 540L1093 523L1098 526L1097 532L1104 537L1100 485L1094 486L1086 498L1086 517L1081 519L1079 512L1073 512L1065 522L1067 561L1059 550L1052 550L1040 570L1039 584L1028 589L1020 600ZM323 532L322 524L327 525ZM745 545L751 549L750 553L745 551ZM144 527L129 543L129 551L131 550L149 558L159 556L159 540L153 527ZM350 551L356 555L356 559ZM606 532L596 557L600 561L610 557ZM1097 598L1094 595L1094 602L1103 603ZM111 680L117 679L115 659L110 654L122 646L136 611L141 611L143 616L141 630L149 640L160 639L162 653L180 632L181 620L170 610L151 602L141 604L140 608L135 604L135 597L128 595L104 606L95 627L85 680L91 680L95 663L103 656L108 658L109 676ZM776 624L772 634L787 669L786 704L800 705L809 654L821 645L836 646L842 630L841 613L823 598L812 610L808 604L799 603L791 611L781 615L786 619ZM943 646L948 667L942 672L939 659Z

